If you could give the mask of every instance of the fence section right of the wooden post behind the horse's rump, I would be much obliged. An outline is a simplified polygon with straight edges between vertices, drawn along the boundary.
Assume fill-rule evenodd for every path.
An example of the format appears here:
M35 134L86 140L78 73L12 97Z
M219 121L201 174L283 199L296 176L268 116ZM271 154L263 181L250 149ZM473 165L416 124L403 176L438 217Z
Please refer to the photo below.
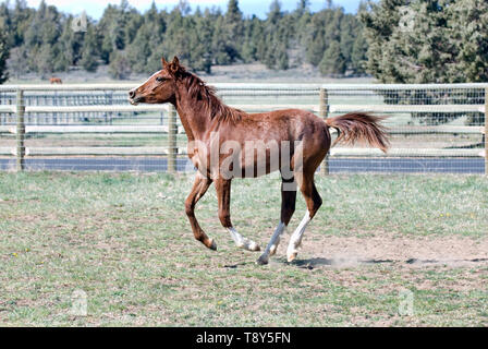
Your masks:
M389 118L391 149L343 147L331 151L340 172L485 172L486 85L322 86L327 117L374 111ZM355 159L355 160L353 160Z

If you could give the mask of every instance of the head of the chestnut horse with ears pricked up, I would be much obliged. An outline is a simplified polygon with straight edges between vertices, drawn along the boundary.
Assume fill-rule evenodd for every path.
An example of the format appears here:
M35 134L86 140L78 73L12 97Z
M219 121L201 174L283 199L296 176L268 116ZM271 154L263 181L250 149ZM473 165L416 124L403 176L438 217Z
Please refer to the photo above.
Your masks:
M162 70L154 73L139 87L129 92L129 101L132 105L139 103L163 104L174 100L176 91L176 77L183 68L180 65L178 57L171 63L164 57L161 59Z

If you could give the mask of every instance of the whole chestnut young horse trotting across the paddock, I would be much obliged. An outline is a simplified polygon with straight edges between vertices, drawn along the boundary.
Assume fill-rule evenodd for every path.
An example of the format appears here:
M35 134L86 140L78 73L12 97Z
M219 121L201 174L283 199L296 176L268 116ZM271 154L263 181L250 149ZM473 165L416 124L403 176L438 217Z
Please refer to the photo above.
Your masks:
M217 97L215 88L180 65L176 57L172 62L162 58L162 70L129 92L129 99L133 105L170 103L176 108L188 137L188 157L197 168L185 210L195 239L208 249L216 250L216 242L200 228L194 209L210 184L215 183L217 189L220 221L236 245L259 251L259 245L242 237L231 222L231 181L281 171L281 218L258 264L267 264L269 256L276 253L280 237L295 210L298 188L307 212L286 250L289 262L296 257L304 231L322 203L314 174L331 146L329 128L337 129L340 134L335 143L359 141L383 152L389 146L385 129L379 123L381 117L353 112L322 120L300 109L246 113L231 108ZM251 151L248 143L253 145Z

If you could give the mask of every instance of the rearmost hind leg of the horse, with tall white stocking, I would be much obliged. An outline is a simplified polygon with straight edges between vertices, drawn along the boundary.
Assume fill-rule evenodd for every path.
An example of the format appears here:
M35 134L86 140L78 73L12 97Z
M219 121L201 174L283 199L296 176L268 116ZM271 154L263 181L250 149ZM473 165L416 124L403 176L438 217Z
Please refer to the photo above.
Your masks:
M298 185L305 198L307 212L290 239L290 244L286 250L286 257L289 262L292 262L296 257L296 254L298 253L297 249L302 244L303 233L322 204L322 200L314 183L314 171L306 171L300 177Z

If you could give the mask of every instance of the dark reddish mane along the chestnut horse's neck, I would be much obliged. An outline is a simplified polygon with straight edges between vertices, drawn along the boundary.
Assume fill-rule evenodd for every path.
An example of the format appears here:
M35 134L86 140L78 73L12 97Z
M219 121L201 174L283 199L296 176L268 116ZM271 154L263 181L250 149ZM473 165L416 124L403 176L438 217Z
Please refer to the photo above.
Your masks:
M184 82L190 97L202 104L204 111L210 115L211 119L219 121L240 121L246 112L225 105L217 96L216 87L207 85L197 75L188 72L183 67L180 68L179 77Z

